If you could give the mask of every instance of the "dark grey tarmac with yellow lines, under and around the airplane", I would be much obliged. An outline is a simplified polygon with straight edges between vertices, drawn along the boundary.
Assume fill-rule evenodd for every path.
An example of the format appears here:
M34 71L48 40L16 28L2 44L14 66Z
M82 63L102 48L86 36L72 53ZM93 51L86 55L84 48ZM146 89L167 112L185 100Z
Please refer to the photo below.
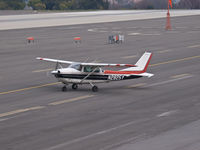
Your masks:
M199 149L200 16L171 23L171 31L165 18L0 31L0 149ZM125 42L108 44L117 33ZM144 51L154 77L99 84L96 93L62 92L48 73L55 64L35 59L134 64Z

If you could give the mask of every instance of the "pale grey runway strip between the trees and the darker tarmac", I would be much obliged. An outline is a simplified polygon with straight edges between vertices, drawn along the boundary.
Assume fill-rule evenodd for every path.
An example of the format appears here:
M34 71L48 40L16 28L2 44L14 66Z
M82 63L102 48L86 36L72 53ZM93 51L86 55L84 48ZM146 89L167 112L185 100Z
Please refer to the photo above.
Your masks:
M7 11L6 11L7 12ZM4 12L4 13L6 13ZM9 11L7 12L9 14ZM12 13L12 11L11 11ZM102 10L83 12L33 12L1 15L0 30L165 18L166 10ZM171 17L200 15L200 10L170 10Z

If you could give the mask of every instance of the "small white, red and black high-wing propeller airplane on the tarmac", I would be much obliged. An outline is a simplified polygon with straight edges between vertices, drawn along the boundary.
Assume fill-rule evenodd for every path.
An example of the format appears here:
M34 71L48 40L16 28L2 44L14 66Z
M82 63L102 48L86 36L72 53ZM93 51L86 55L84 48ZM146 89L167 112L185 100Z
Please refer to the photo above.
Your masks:
M136 79L141 77L152 77L153 74L146 73L151 60L152 53L145 52L135 65L131 64L105 64L105 63L81 63L73 61L64 61L57 59L41 58L36 59L54 62L56 68L51 71L58 81L64 86L62 91L66 91L66 85L72 84L72 89L76 90L79 84L90 84L92 91L97 92L98 87L95 83L106 83L110 81L120 81ZM62 68L61 64L70 64L67 68ZM119 71L102 70L102 67L127 67Z

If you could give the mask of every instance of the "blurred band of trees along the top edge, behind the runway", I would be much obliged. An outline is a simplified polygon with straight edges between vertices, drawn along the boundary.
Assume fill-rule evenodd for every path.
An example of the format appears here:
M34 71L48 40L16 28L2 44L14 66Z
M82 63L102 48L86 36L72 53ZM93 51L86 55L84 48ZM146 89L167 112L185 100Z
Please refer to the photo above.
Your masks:
M168 0L141 0L137 3L131 0L116 0L112 6L109 0L29 0L28 6L34 10L89 10L89 9L166 9ZM173 8L200 9L200 0L172 0ZM122 5L124 4L125 5ZM0 0L0 9L24 9L25 0Z

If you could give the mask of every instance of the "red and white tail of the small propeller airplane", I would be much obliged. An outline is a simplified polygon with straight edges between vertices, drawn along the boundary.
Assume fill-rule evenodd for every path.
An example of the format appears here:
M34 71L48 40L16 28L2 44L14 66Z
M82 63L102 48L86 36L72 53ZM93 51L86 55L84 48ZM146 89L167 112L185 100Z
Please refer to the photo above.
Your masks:
M151 77L153 76L153 74L150 73L146 73L147 71L147 67L150 63L152 57L152 53L149 52L145 52L142 57L140 57L140 59L137 61L137 63L135 64L136 67L129 67L120 71L131 71L131 72L135 72L137 74L140 74L142 76L147 76L147 77Z

